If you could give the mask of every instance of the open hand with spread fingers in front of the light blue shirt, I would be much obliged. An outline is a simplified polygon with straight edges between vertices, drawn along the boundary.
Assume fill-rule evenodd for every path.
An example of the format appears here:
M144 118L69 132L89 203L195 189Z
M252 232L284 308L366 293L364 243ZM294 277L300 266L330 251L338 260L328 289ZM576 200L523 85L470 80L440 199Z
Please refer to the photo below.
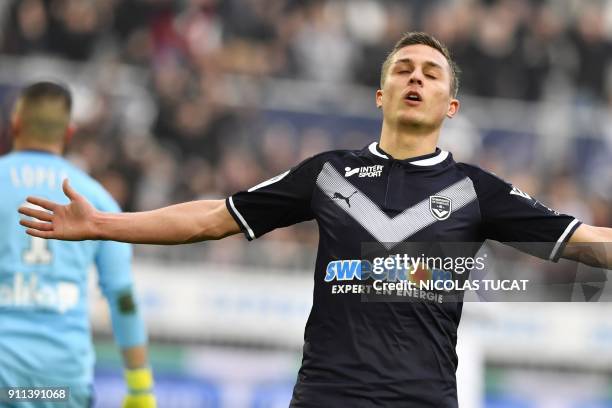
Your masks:
M19 213L34 219L22 219L26 233L34 237L80 241L97 239L94 219L97 210L79 193L74 191L68 179L62 188L70 204L61 205L39 197L28 197L27 202L43 209L19 207ZM46 210L46 211L45 211Z

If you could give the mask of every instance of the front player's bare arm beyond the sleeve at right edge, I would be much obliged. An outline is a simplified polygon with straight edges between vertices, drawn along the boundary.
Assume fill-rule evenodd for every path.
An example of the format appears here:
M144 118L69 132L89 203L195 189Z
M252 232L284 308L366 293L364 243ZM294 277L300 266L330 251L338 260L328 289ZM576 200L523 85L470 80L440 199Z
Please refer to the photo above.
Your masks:
M570 237L562 257L612 269L612 228L581 224Z

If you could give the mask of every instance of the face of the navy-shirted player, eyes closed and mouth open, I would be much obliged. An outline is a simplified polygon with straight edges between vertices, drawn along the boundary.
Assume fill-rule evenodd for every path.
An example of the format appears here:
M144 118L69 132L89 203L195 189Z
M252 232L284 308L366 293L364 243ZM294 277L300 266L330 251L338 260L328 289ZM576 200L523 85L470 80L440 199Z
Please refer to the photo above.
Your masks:
M393 56L376 105L388 125L433 130L459 109L451 92L451 68L444 55L427 45L409 45Z

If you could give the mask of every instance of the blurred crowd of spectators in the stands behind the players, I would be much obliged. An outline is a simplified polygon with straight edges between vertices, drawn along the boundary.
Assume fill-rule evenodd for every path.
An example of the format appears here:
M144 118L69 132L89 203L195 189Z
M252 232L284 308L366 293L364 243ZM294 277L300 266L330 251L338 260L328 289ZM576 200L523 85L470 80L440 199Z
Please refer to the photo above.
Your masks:
M463 71L460 97L612 109L610 0L14 0L0 5L0 17L4 55L141 73L151 120L126 129L121 118L139 115L116 96L127 85L116 75L90 78L93 102L69 150L125 210L224 197L312 154L376 140L377 119L359 128L345 118L340 131L303 113L306 124L297 125L262 109L266 95L249 92L293 80L368 87L373 98L380 65L405 31L430 32L449 46ZM492 167L549 206L612 223L612 125L609 134L578 131L585 143L568 146L581 156L562 152L560 163L541 166L526 154L519 169L499 153L506 142L497 130L472 123L474 146L460 159ZM580 165L585 157L596 164ZM316 245L312 226L270 235ZM295 258L291 250L270 256L285 259L281 265Z

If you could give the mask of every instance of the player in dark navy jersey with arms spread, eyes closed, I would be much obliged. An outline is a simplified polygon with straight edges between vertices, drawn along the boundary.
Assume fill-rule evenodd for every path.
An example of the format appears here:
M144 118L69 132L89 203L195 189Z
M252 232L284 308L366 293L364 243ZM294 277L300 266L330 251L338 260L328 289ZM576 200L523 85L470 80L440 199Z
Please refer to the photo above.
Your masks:
M320 243L313 306L292 407L456 407L460 302L362 302L363 276L338 262L362 259L362 243L551 242L547 258L610 267L605 251L567 242L612 241L612 230L558 214L478 167L436 148L459 110L457 67L425 33L403 36L382 66L378 142L336 150L226 200L117 214L92 207L68 182L70 204L31 197L27 233L65 240L180 244L240 231L248 240L315 219ZM590 255L589 255L590 254ZM357 292L357 293L356 293Z

